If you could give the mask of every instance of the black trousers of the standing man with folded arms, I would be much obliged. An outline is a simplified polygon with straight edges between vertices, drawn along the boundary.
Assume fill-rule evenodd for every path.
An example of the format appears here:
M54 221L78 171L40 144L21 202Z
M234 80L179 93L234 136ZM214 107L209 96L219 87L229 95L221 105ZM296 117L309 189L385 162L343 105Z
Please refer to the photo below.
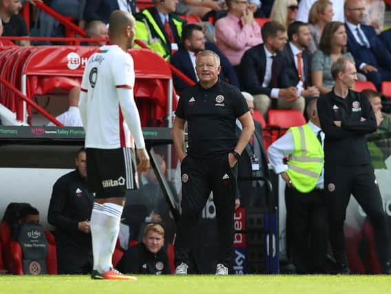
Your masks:
M352 194L368 216L374 230L374 241L380 264L390 260L390 238L383 202L372 165L357 167L325 166L326 199L330 222L330 244L337 263L346 262L344 221Z

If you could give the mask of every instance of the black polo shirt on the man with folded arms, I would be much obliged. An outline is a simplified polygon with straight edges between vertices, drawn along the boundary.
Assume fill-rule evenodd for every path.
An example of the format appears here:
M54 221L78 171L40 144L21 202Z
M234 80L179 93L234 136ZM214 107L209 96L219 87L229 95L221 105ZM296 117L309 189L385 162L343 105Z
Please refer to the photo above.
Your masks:
M357 166L371 164L366 134L377 129L376 118L368 99L349 90L346 98L334 89L317 102L321 129L324 131L325 165ZM361 117L366 120L361 121ZM341 121L341 127L334 122Z

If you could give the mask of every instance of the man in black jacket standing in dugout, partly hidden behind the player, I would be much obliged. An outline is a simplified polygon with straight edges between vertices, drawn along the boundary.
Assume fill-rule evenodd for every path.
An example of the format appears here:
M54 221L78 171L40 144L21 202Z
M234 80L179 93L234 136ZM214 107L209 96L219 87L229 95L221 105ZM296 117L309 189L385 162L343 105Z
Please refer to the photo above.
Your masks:
M54 183L47 221L56 227L59 274L87 274L92 271L89 218L94 196L87 188L85 149L76 155L76 169Z

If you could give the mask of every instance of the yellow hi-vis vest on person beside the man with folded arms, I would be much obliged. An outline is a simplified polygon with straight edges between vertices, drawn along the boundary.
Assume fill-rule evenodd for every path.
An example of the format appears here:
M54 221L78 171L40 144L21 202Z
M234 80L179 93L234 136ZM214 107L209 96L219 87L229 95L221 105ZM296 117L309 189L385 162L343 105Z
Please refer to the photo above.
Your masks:
M324 165L321 143L309 125L291 127L295 151L288 158L288 174L293 187L302 193L315 188Z

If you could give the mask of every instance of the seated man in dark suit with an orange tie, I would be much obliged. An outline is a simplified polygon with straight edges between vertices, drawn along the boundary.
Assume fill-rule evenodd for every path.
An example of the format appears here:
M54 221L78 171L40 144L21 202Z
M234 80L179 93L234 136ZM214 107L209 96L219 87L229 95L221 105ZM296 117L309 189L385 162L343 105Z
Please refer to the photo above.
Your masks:
M319 90L311 86L311 56L306 50L311 34L307 23L294 21L288 27L288 43L285 45L284 67L288 83L297 87L297 94L304 98L319 97Z

